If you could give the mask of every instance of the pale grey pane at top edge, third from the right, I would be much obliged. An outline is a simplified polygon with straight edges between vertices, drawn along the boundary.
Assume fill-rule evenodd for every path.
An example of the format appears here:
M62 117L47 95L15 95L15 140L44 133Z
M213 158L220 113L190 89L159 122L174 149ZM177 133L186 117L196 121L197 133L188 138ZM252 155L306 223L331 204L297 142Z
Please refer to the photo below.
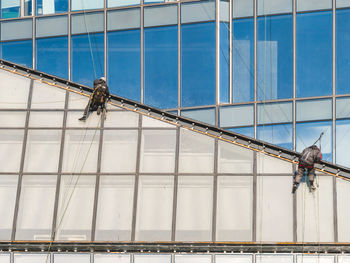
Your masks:
M292 13L293 0L258 0L258 15Z

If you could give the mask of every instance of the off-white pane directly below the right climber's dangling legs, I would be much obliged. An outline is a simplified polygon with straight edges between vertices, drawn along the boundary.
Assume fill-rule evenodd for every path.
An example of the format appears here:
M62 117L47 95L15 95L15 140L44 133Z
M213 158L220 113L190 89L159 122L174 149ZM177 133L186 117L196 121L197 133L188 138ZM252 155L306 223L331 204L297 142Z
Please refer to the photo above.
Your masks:
M309 192L306 182L296 192L298 242L334 241L333 178L317 176L316 182L316 194Z

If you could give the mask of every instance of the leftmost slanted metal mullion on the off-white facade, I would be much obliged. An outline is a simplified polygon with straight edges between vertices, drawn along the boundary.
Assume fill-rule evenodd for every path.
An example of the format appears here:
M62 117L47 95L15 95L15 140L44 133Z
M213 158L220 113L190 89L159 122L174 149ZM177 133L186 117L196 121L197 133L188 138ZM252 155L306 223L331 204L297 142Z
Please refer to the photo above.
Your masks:
M18 176L18 182L17 182L16 203L15 203L15 209L13 213L11 240L15 240L15 237L16 237L19 199L20 199L21 187L22 187L22 177L23 177L25 152L26 152L27 139L28 139L28 124L29 124L29 117L30 117L30 107L31 107L32 96L33 96L33 87L34 87L34 80L31 79L30 86L29 86L28 102L27 102L27 116L26 116L23 144L22 144L21 164L19 168L19 176Z

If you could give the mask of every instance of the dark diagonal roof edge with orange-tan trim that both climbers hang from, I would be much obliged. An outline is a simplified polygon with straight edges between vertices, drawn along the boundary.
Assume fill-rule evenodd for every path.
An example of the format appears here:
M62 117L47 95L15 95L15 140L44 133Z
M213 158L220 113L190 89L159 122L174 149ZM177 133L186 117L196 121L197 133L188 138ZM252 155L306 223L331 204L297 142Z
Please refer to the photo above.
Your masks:
M52 86L64 88L70 91L80 93L82 95L84 94L84 92L87 92L87 93L92 92L92 88L88 86L81 85L76 82L72 82L72 81L69 81L57 76L53 76L44 72L40 72L38 70L33 70L31 68L18 65L3 59L0 59L0 68L11 71L12 73L25 75L31 78L33 78L33 76L36 76L37 79L39 80L51 81ZM190 129L195 132L206 134L208 136L215 137L223 141L240 145L250 150L264 153L269 156L273 156L290 163L294 163L294 164L298 163L298 157L300 156L300 153L296 151L288 150L271 143L250 138L250 137L247 137L235 132L231 132L222 128L218 128L216 126L206 124L200 121L196 121L190 118L178 116L178 115L166 112L164 110L147 106L130 99L119 97L114 94L111 95L111 99L114 102L114 103L112 102L111 104L114 106L122 107L126 110L136 111L140 114L147 115L177 126L181 126L183 128ZM316 165L316 169L320 172L323 172L332 176L340 177L342 179L346 179L350 181L350 168L348 167L344 167L344 166L326 162L326 161L321 161L320 164Z

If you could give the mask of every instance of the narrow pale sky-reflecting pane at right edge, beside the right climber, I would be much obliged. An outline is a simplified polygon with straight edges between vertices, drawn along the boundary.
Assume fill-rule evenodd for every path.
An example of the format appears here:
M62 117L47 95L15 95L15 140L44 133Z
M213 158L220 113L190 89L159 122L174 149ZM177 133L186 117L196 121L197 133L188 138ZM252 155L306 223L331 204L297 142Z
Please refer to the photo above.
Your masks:
M336 163L350 167L350 120L336 121L335 158Z

